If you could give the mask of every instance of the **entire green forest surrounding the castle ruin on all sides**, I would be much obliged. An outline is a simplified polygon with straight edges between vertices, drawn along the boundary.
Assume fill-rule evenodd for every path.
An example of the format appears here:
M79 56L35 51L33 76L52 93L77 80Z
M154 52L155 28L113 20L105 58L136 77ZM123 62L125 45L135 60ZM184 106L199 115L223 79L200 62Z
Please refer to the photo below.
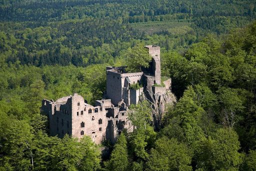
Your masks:
M255 170L255 18L254 0L0 1L0 170ZM137 44L177 97L160 130L144 101L115 144L48 136L41 100L93 104Z

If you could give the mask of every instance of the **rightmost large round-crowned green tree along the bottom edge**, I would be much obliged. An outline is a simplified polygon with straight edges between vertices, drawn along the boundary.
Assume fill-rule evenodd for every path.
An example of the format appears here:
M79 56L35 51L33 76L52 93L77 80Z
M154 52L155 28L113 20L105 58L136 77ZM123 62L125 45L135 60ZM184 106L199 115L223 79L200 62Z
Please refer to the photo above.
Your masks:
M198 144L196 157L198 168L227 170L238 169L242 155L238 152L237 133L230 128L219 128L212 137Z

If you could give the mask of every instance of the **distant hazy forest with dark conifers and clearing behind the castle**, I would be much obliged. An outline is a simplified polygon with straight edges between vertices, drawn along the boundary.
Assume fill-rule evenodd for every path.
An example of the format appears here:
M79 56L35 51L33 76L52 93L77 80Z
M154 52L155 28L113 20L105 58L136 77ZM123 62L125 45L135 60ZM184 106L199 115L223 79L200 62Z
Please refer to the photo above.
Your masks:
M1 58L36 66L113 63L137 40L183 49L255 13L254 0L3 0Z

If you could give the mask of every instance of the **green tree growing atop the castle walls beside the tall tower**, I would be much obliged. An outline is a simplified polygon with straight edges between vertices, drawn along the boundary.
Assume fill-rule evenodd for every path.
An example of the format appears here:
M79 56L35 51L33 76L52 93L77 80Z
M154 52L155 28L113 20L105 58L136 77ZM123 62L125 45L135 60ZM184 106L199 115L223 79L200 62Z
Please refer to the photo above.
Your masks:
M127 65L125 69L128 72L140 72L141 67L147 68L149 62L152 60L152 56L148 54L147 49L142 43L139 43L132 48L128 48L125 56Z

